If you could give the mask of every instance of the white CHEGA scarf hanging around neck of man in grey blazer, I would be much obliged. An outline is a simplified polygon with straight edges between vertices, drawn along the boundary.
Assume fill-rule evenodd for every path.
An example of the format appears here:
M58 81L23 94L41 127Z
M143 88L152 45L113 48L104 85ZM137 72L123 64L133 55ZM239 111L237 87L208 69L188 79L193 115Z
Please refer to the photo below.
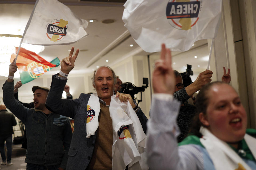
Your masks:
M97 93L91 94L87 105L86 138L98 129L100 104ZM111 97L109 107L113 126L112 169L149 169L146 160L147 137L139 118L129 102Z

